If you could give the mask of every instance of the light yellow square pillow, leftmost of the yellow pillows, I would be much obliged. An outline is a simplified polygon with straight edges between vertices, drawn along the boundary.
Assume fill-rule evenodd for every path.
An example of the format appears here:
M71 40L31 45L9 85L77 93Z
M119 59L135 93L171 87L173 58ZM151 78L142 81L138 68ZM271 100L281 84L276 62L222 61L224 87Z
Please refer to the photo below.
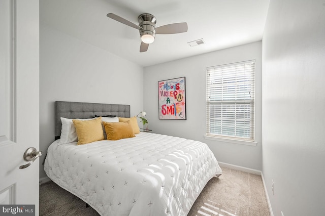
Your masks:
M73 119L72 121L76 127L76 132L78 136L77 145L104 140L102 117L88 121L83 121L79 119Z

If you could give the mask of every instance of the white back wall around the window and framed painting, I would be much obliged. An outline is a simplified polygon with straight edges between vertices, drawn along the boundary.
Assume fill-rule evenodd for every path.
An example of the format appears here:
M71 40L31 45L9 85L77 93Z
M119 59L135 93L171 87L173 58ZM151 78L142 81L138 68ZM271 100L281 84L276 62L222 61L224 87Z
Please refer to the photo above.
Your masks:
M209 46L201 45L201 46ZM193 48L195 49L195 47ZM225 143L204 139L206 124L206 68L210 66L256 60L256 135L257 146ZM167 134L207 143L218 161L262 169L262 42L220 50L144 68L144 111L154 133ZM158 119L160 80L185 76L187 120Z

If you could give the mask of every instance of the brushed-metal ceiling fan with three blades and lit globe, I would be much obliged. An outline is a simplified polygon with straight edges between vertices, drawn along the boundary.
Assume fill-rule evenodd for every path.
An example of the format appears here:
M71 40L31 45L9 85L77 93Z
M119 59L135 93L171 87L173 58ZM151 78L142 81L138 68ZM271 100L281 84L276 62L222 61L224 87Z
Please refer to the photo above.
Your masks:
M152 14L144 13L138 17L139 25L136 25L116 14L109 13L107 16L125 25L136 28L140 32L141 45L140 53L148 50L149 44L154 41L156 34L176 34L187 31L187 23L173 23L156 27L156 18Z

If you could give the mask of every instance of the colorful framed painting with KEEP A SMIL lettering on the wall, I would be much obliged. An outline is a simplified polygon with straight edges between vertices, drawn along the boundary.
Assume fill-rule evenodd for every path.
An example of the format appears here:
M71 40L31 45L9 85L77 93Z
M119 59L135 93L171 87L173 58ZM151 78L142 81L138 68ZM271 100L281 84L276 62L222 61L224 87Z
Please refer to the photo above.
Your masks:
M159 119L186 120L185 77L158 81Z

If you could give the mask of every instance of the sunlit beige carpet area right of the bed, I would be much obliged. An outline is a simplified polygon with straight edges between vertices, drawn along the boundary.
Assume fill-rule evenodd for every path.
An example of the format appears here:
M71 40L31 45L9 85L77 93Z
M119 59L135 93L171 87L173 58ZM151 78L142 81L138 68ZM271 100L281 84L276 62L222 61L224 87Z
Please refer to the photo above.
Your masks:
M188 216L269 216L262 177L226 167L211 179L194 202Z

